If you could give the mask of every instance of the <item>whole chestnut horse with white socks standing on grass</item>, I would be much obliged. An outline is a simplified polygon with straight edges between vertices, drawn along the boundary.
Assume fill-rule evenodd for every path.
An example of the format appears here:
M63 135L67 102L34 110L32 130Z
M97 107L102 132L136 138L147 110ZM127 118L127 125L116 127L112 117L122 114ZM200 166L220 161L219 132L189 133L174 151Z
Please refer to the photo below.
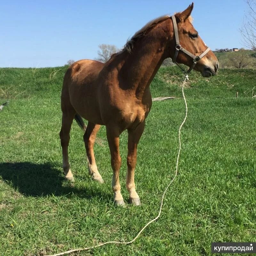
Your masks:
M194 4L175 14L178 36L182 47L194 55L204 53L207 46L191 24ZM68 161L69 132L73 119L85 130L84 144L89 174L100 183L93 145L100 125L106 125L108 145L113 169L112 188L116 204L124 205L119 183L121 157L119 136L128 131L126 188L129 203L140 205L135 190L134 171L137 145L143 133L145 119L152 105L149 85L166 58L173 58L176 49L172 17L162 16L150 21L129 40L124 49L111 56L106 63L79 60L67 70L61 93L62 126L60 140L65 178L74 180ZM193 59L184 52L175 56L178 63L193 65ZM207 52L194 67L202 76L214 76L218 60ZM88 120L87 127L82 118Z

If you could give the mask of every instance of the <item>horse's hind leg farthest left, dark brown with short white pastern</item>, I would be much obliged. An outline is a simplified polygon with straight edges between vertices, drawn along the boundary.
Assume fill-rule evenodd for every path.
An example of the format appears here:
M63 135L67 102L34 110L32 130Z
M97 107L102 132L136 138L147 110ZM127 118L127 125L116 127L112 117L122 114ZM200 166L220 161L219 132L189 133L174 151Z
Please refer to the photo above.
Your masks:
M74 181L73 174L70 170L70 165L68 161L68 144L69 144L69 132L71 129L71 125L76 114L75 109L70 105L69 108L63 105L62 106L62 125L60 130L60 143L62 147L62 161L63 161L63 171L65 173L65 178L67 180Z

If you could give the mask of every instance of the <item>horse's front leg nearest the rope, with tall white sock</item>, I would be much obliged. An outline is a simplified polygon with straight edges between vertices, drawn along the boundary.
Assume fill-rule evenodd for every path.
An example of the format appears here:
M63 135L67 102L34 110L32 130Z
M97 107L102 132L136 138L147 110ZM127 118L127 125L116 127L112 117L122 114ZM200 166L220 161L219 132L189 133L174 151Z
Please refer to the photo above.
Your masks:
M129 192L129 203L134 205L140 205L140 197L135 190L134 172L137 162L137 145L144 131L144 127L145 120L135 130L128 129L126 188Z

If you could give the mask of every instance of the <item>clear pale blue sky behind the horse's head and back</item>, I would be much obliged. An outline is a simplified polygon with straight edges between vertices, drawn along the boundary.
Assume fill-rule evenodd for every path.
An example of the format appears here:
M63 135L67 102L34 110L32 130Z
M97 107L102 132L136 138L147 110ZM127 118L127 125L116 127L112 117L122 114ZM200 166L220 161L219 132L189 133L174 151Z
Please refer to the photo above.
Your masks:
M125 42L149 20L192 0L1 1L0 67L56 67L95 59L99 44ZM244 47L244 0L194 0L193 25L212 49Z

